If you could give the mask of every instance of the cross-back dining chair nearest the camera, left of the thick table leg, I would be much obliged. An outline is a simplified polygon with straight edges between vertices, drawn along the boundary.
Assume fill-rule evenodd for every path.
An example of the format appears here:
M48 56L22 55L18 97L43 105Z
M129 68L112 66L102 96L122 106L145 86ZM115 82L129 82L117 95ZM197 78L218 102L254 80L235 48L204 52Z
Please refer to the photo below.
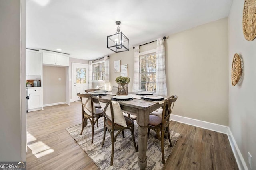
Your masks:
M132 140L134 144L135 151L138 152L138 148L135 143L134 137L134 122L125 117L123 115L122 109L118 102L111 101L109 99L103 99L101 96L98 96L98 100L100 102L100 106L103 109L104 114L104 135L101 147L104 146L106 130L110 132L111 135L111 142L112 142L112 150L111 150L111 161L110 165L113 165L114 159L114 143L116 142L116 138L120 132L123 133L124 137L124 130L129 129L132 133ZM118 131L115 135L115 131Z

